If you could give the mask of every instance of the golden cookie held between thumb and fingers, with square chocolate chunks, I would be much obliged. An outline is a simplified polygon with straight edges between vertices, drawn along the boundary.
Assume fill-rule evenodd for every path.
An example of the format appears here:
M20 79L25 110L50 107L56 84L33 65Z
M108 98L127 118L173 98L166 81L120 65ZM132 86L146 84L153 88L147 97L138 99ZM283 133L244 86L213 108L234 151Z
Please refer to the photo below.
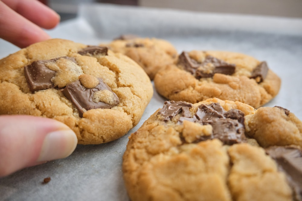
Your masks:
M51 39L0 60L0 114L56 119L79 144L123 136L152 95L143 69L107 47Z

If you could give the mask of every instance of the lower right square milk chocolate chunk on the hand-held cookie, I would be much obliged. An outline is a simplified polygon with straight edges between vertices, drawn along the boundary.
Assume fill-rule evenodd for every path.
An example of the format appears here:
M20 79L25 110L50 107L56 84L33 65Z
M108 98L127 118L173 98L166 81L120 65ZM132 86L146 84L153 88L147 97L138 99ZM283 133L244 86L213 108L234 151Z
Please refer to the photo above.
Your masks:
M99 84L92 89L85 88L81 85L80 81L77 80L75 82L69 83L63 90L64 96L66 96L66 98L68 98L79 110L80 117L82 117L83 113L87 110L97 108L112 108L113 106L119 104L117 95L112 92L109 86L104 83L101 78L98 78L98 80ZM101 90L108 90L113 93L114 100L112 101L112 104L93 101L94 93Z

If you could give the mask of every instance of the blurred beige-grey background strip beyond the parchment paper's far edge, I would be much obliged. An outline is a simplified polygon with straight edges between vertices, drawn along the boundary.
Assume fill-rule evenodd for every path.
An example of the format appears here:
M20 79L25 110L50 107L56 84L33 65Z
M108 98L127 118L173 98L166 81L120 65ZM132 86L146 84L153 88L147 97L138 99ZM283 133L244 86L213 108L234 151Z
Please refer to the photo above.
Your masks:
M302 0L40 0L61 15L61 20L76 17L81 3L112 3L189 11L253 14L302 18Z

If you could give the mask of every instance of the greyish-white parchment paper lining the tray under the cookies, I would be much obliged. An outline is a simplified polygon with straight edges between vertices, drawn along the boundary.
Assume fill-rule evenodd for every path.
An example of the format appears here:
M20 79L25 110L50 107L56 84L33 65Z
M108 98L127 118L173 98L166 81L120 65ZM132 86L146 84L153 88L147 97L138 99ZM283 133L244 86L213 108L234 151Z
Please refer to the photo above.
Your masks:
M267 61L282 79L278 96L265 106L282 106L302 119L302 19L93 4L81 5L76 19L48 33L88 45L132 33L166 39L179 52L226 50L251 55ZM0 40L1 58L17 50ZM0 200L129 200L121 171L128 137L164 101L154 91L140 123L118 140L78 145L66 159L0 178ZM51 181L42 184L45 177Z

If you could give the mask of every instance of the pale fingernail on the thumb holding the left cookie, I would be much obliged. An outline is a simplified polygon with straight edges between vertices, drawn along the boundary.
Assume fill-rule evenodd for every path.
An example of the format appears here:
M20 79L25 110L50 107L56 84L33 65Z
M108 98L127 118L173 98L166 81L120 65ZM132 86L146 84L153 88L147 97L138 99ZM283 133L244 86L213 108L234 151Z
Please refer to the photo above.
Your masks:
M58 130L48 133L43 141L37 162L62 159L69 156L78 143L72 130Z

